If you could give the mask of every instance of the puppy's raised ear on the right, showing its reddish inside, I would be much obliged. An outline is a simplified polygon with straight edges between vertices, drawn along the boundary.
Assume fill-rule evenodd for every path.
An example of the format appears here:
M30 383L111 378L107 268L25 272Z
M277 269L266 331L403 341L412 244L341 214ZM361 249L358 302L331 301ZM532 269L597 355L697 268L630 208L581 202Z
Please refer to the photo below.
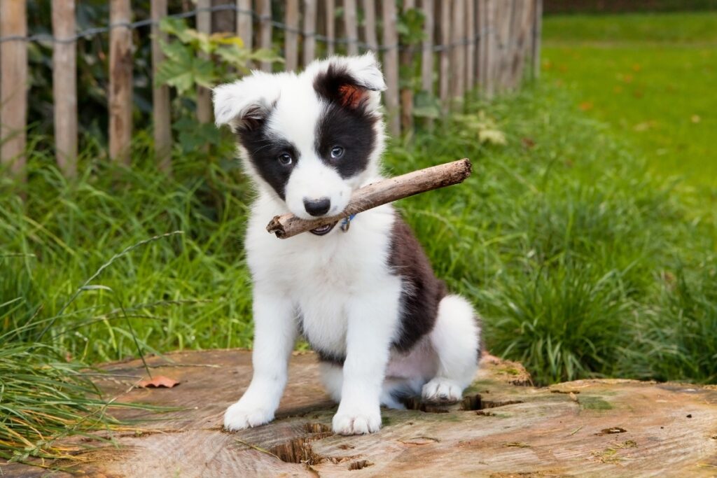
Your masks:
M384 75L373 53L360 57L332 57L310 64L313 87L320 97L343 107L379 107L380 92L386 90Z

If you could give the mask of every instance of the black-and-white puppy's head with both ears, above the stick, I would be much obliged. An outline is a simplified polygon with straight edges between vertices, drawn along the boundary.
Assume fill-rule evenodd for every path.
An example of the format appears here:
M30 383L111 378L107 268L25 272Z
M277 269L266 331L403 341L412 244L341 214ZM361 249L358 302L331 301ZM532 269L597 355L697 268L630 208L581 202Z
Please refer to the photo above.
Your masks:
M253 72L217 87L214 117L237 133L259 188L275 193L295 216L333 216L378 172L385 89L373 54L332 57L299 75Z

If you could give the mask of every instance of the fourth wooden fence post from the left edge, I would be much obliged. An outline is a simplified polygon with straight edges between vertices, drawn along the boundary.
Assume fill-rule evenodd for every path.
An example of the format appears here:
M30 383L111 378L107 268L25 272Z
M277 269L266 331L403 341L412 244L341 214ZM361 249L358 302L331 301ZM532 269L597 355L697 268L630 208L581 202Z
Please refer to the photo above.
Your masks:
M62 0L60 0L62 1ZM159 64L164 60L164 53L159 44L166 35L159 29L158 21L167 15L167 0L152 0L152 123L154 130L154 154L158 168L171 173L171 114L169 109L169 88L166 85L154 84Z

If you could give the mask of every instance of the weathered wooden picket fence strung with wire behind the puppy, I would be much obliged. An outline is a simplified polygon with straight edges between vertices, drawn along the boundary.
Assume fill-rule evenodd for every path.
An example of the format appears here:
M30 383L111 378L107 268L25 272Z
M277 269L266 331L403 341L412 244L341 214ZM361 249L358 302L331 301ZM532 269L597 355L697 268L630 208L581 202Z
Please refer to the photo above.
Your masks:
M359 4L360 3L360 4ZM77 173L76 42L90 34L109 34L109 156L129 164L132 135L132 29L151 25L152 64L163 56L158 21L168 16L167 0L151 0L151 17L133 19L130 0L109 0L105 29L76 32L75 0L52 0L52 36L27 33L25 0L0 0L0 161L22 178L27 127L27 43L53 44L54 138L57 164L67 177ZM397 6L400 4L400 7ZM337 16L338 9L343 14ZM420 9L421 44L402 44L399 14ZM414 90L400 87L399 68L420 63L421 88L437 97L447 113L456 100L478 88L486 97L515 88L526 75L537 75L542 0L196 0L200 32L212 31L212 16L233 16L232 27L247 47L278 47L289 70L323 54L358 54L373 50L381 57L388 90L384 102L389 131L412 128ZM172 15L177 15L172 13ZM280 18L282 17L282 18ZM361 21L359 21L361 19ZM134 21L134 23L133 23ZM226 22L224 22L226 23ZM282 29L279 44L275 31ZM380 33L380 39L379 39ZM317 48L317 42L322 48ZM271 70L272 64L258 65ZM82 87L82 85L79 85ZM171 170L171 112L168 88L153 88L153 131L158 167ZM199 88L196 115L212 121L209 90Z

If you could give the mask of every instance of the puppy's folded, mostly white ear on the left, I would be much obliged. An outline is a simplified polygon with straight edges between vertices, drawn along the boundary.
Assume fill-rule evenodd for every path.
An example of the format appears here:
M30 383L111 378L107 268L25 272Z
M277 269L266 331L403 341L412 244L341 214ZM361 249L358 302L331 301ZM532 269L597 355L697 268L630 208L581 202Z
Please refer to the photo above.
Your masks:
M254 72L242 80L214 88L214 122L232 131L258 128L279 99L277 75Z

